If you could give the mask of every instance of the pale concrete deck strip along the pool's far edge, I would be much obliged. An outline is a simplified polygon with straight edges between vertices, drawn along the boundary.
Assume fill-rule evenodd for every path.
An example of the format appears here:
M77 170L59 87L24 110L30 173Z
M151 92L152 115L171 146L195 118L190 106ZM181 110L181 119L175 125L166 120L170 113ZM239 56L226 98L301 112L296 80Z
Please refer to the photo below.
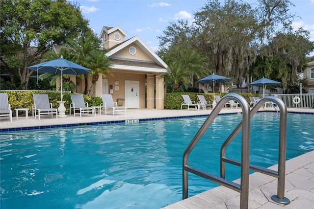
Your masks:
M287 108L288 112L291 113L307 113L314 114L314 109L305 109L305 108ZM260 109L260 111L275 111L272 108ZM23 131L29 129L42 129L53 127L68 127L75 125L92 125L97 123L115 123L115 122L125 122L126 120L136 120L136 119L167 119L173 117L193 117L193 116L208 116L211 110L146 110L146 109L127 109L127 115L118 113L118 115L113 116L112 114L102 115L96 114L93 116L67 116L63 118L57 118L53 116L41 116L41 120L29 116L26 120L25 116L19 116L17 120L16 117L13 117L12 122L10 122L8 117L0 117L0 132L2 131ZM220 111L220 114L234 114L241 113L242 109L230 109L225 108ZM29 110L31 113L31 110ZM36 127L36 128L31 128Z

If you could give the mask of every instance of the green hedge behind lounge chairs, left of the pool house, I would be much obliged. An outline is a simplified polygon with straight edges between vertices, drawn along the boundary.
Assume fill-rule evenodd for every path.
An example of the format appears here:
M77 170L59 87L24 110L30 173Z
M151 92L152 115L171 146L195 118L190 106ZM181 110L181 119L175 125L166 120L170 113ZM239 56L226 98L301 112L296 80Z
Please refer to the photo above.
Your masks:
M33 94L34 93L46 93L49 97L49 102L52 103L53 108L58 108L59 103L58 101L61 101L61 93L58 92L10 92L5 91L0 93L7 93L9 103L11 104L11 110L13 115L15 116L15 108L29 108L29 114L31 114L32 105L34 104ZM65 101L65 108L66 108L66 114L69 114L69 107L72 103L71 101L71 93L63 93L63 101ZM100 106L100 104L103 102L101 97L93 97L93 96L86 96L83 94L84 101L88 103L88 106Z

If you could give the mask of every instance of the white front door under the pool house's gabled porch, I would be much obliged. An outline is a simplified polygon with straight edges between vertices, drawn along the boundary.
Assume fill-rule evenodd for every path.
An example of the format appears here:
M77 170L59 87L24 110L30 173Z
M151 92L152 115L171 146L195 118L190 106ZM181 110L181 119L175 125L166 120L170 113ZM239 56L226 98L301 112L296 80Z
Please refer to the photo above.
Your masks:
M127 108L139 108L139 81L126 81Z

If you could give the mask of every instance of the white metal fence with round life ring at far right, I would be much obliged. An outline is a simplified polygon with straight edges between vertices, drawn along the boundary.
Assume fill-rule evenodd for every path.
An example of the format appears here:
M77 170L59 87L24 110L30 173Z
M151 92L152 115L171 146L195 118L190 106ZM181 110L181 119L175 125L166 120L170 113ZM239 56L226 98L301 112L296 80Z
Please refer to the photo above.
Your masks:
M314 108L314 93L271 94L283 100L287 107Z

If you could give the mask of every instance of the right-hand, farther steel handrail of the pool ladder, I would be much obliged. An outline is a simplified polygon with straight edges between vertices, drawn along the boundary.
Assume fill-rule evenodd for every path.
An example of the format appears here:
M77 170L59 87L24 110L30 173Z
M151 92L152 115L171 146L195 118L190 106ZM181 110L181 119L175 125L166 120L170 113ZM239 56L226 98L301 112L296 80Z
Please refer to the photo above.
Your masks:
M271 102L271 104L272 102L276 103L280 110L278 171L274 171L274 170L271 170L262 166L257 166L257 165L252 165L252 164L250 164L249 166L251 170L278 178L277 196L273 195L271 199L277 203L288 205L290 201L288 198L285 197L287 107L285 103L278 97L266 96L260 99L259 102L252 108L251 118L257 113L257 111L266 102ZM241 166L240 162L225 157L227 146L231 143L231 141L235 138L235 136L240 132L241 126L242 126L242 122L238 124L235 130L231 133L231 135L225 140L225 142L221 146L221 149L220 149L220 159L221 159L220 177L221 178L225 178L225 163L232 163L232 164Z

